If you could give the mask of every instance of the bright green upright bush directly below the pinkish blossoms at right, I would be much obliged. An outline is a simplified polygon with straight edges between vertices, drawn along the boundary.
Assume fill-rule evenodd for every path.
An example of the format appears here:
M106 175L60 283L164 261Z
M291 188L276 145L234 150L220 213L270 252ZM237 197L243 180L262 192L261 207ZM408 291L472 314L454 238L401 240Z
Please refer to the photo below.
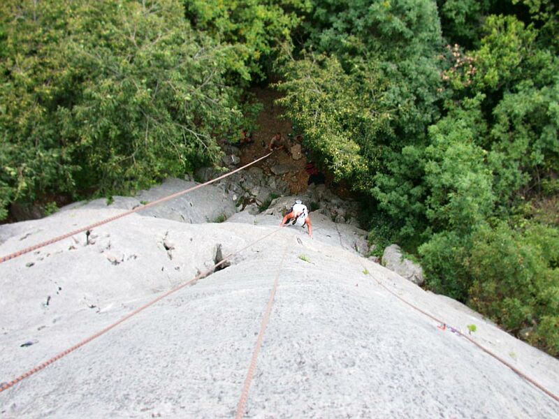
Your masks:
M481 99L465 101L430 127L424 181L431 230L467 235L493 212L493 174L486 164L486 151L475 143L486 132L479 111Z

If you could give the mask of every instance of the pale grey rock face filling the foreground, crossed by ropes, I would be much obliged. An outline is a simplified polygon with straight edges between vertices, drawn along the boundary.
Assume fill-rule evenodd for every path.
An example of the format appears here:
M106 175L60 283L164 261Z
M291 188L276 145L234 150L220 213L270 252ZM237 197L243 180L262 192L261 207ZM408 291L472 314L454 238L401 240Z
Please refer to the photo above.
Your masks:
M224 223L177 221L169 201L1 264L0 378L10 381L212 267L218 249L238 252L230 267L0 392L0 416L231 418L277 278L248 417L556 417L549 396L395 295L459 330L475 323L474 339L555 394L558 360L361 257L365 232L321 214L331 201L311 213L314 240L279 228L291 200ZM0 254L137 202L0 226Z

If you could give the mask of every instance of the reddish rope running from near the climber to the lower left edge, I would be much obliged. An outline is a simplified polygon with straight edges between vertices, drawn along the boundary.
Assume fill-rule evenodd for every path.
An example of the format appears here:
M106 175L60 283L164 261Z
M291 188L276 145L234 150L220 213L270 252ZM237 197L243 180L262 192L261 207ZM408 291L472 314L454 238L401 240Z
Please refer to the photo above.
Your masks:
M233 256L238 255L239 253L241 253L242 251L245 251L249 247L254 246L254 244L256 244L256 243L261 242L261 240L264 240L267 237L270 237L271 235L274 235L280 229L281 228L276 228L271 233L263 235L258 240L254 240L254 242L251 242L251 243L247 244L247 246L242 247L242 249L239 249L238 251L230 253L223 260L220 260L218 263L213 265L213 267L210 267L210 269L206 270L205 272L201 272L200 274L196 275L196 277L194 277L193 279L190 279L189 281L184 282L184 284L180 284L179 286L176 286L175 288L171 289L170 291L167 291L166 293L164 293L162 295L159 295L159 297L154 298L154 300L151 300L150 302L147 302L143 306L138 307L137 309L131 311L129 314L126 314L126 316L120 318L118 321L115 321L115 323L112 323L111 325L108 325L103 330L100 330L99 332L96 332L94 335L92 335L90 337L87 337L86 339L83 339L78 344L75 344L74 346L71 346L70 348L66 349L65 351L62 351L61 353L59 353L58 355L55 355L54 357L50 358L49 360L46 360L41 365L38 365L38 366L34 367L33 369L30 369L28 372L25 372L24 374L18 376L17 378L14 378L13 380L9 381L8 383L3 383L0 387L0 392L3 392L4 390L8 390L8 388L13 387L13 385L19 383L20 381L24 380L25 378L35 374L36 372L41 371L41 369L45 369L45 367L48 367L50 364L52 364L52 362L55 362L55 361L59 360L60 358L64 358L64 356L68 355L68 353L71 353L71 352L75 351L76 349L80 348L81 346L84 346L85 344L89 343L90 341L96 339L97 337L100 337L101 335L104 335L109 330L112 330L112 329L116 328L117 325L123 323L124 321L128 320L132 316L135 316L136 314L140 313L140 311L143 311L143 310L147 309L148 307L151 307L153 304L155 304L156 302L159 302L160 300L163 300L165 297L168 297L169 295L171 295L173 293L176 293L177 291L181 290L182 288L184 288L186 286L189 286L191 284L196 284L196 281L198 281L198 279L205 278L208 274L214 272L217 267L223 265L227 260L230 260L231 258L233 258Z

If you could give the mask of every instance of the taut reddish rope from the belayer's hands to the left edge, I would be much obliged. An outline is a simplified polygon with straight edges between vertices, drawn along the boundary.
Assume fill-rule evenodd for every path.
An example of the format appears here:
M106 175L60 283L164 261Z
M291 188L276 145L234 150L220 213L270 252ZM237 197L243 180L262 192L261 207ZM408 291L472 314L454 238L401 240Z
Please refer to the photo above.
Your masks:
M33 246L27 247L26 249L22 249L22 250L19 250L19 251L15 251L14 253L11 253L11 254L9 254L9 255L7 255L7 256L3 256L2 258L0 258L0 263L4 263L4 262L6 262L7 260L10 260L10 259L13 259L13 258L17 258L18 256L22 256L22 255L24 255L25 253L29 253L30 251L34 251L34 250L36 250L36 249L40 249L41 247L48 246L48 244L56 243L56 242L59 242L60 240L67 239L68 237L72 237L73 235L76 235L76 234L78 234L78 233L82 233L82 232L84 232L84 231L92 230L93 228L102 226L103 224L110 223L110 221L115 221L115 220L117 220L117 219L120 219L120 218L122 218L123 216L127 216L127 215L130 215L130 214L133 214L134 212L138 212L138 211L141 211L141 210L145 210L145 209L147 209L147 208L153 207L154 205L158 205L158 204L164 203L164 202L166 202L166 201L168 201L168 200L171 200L171 199L173 199L173 198L177 198L177 196L184 195L184 193L189 193L189 192L191 192L191 191L195 191L196 189L199 189L199 188L201 188L201 187L203 187L203 186L206 186L206 185L212 184L212 183L214 183L214 182L217 182L218 180L221 180L221 179L224 179L225 177L228 177L228 176L233 175L233 173L236 173L236 172L238 172L238 171L240 171L240 170L243 170L243 169L245 169L245 168L247 168L247 167L249 167L249 166L252 166L254 163L258 163L259 161L261 161L261 160L263 160L263 159L266 159L266 157L270 156L271 154L272 154L272 152L270 152L270 153L268 153L268 154L265 154L264 156L260 157L259 159L256 159L256 160L254 160L254 161L252 161L252 162L250 162L250 163L245 164L245 166L242 166L242 167L240 167L240 168L238 168L238 169L235 169L235 170L231 170L231 172L228 172L228 173L226 173L225 175L216 177L215 179L209 180L208 182L204 182L203 184L199 184L199 185L196 185L196 186L194 186L194 187L192 187L192 188L185 189L184 191L180 191L180 192L177 192L177 193L173 193L172 195L165 196L164 198L160 198L160 199L158 199L158 200L155 200L155 201L152 202L152 203L148 203L148 204L145 204L145 205L141 205L141 206L139 206L139 207L133 208L132 210L123 212L122 214L118 214L118 215L115 215L115 216L111 216L111 217L108 218L108 219L104 219L104 220L101 220L101 221L99 221L99 222L97 222L97 223L93 223L93 224L91 224L91 225L89 225L89 226L87 226L87 227L78 228L78 230L73 230L73 231L71 231L70 233L66 233L66 234L64 234L64 235L55 237L55 238L50 239L50 240L46 240L45 242L41 242L41 243L38 243L38 244L34 244Z

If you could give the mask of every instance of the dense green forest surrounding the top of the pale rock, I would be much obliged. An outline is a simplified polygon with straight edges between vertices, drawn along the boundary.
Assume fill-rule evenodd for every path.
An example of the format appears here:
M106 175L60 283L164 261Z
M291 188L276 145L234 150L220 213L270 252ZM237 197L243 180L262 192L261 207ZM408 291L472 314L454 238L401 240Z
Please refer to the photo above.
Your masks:
M0 220L216 164L273 80L375 251L558 356L558 52L552 0L4 0Z

